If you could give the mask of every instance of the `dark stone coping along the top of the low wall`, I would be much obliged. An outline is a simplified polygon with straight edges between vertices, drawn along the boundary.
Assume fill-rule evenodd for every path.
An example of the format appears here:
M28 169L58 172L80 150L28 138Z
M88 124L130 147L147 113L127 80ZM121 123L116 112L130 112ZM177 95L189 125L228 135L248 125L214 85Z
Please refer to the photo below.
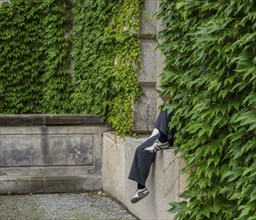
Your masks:
M18 125L103 125L90 114L0 114L0 126Z

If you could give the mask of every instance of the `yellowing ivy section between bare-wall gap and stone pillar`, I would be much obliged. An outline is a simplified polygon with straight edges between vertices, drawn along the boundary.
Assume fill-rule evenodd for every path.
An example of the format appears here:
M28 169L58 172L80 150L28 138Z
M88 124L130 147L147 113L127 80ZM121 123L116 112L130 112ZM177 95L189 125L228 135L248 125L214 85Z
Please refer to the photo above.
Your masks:
M101 115L121 134L132 131L133 102L140 95L141 2L75 1L72 105Z

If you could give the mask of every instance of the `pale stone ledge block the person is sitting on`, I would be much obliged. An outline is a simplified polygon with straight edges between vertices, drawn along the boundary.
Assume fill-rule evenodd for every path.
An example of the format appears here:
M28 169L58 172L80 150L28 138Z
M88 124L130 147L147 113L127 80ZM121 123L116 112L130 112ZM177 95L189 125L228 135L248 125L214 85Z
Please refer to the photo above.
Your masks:
M174 215L167 211L169 203L179 201L178 195L185 189L186 176L179 172L184 161L174 155L173 149L157 152L146 182L150 194L132 204L137 184L128 180L128 175L135 149L146 138L122 140L112 133L104 133L103 140L103 190L139 219L173 219Z

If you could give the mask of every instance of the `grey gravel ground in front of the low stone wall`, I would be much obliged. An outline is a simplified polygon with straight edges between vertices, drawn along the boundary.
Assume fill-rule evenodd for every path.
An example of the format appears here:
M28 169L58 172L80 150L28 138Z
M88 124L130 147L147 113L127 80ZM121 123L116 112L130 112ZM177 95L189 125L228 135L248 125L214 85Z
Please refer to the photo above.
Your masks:
M102 192L0 196L1 220L136 219Z

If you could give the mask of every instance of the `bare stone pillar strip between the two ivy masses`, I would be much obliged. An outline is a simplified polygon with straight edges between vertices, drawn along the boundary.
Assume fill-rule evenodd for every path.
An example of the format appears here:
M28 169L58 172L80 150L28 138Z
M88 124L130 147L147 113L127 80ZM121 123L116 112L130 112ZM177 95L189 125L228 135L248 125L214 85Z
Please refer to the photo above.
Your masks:
M154 129L154 122L162 104L157 90L160 88L159 75L163 69L163 57L156 50L157 33L160 24L155 13L160 0L145 0L142 11L141 52L142 69L139 72L139 83L144 94L135 104L135 131L149 133Z

